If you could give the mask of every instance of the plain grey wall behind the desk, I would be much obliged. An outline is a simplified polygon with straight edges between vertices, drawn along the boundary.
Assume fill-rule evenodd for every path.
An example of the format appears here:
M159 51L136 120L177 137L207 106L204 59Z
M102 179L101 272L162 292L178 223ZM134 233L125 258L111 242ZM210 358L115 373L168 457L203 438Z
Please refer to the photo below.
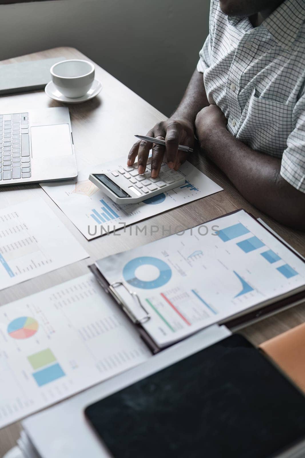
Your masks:
M209 0L53 0L0 5L0 60L78 48L169 115L208 33Z

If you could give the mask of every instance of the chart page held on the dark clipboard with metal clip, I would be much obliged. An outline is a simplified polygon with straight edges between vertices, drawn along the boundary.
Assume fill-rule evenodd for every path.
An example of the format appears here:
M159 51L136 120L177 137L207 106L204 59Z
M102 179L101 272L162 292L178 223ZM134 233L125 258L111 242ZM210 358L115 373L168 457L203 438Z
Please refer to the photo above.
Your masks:
M305 262L241 210L184 233L108 256L96 266L150 313L142 326L160 348L229 317L305 293ZM123 286L138 319L145 313ZM305 294L304 294L305 297Z

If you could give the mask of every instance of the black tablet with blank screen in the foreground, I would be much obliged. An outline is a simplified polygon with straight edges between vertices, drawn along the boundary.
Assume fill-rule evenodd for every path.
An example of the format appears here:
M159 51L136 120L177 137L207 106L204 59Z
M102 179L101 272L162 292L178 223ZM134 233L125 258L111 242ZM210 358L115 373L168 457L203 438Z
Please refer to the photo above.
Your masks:
M305 397L240 335L85 413L115 458L271 458L305 440Z

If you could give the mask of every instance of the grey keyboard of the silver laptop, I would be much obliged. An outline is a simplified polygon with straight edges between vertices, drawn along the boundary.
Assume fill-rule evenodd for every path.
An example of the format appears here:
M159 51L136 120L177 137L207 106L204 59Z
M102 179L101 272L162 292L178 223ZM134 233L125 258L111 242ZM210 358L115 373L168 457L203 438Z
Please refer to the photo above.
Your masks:
M30 177L28 113L0 114L0 181Z

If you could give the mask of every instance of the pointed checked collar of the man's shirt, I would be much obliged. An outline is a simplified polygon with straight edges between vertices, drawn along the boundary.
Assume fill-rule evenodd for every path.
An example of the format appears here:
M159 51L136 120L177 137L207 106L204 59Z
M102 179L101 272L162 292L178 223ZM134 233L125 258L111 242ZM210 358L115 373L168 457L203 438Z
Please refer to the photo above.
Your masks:
M294 43L305 21L305 0L285 0L265 19L265 27L284 49Z

